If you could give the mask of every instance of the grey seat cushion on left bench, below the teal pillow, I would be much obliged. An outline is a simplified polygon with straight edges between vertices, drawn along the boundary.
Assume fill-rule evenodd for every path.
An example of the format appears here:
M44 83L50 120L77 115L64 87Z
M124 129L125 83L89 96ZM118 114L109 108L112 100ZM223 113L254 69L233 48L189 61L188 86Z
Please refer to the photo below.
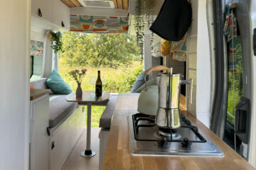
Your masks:
M49 127L53 128L68 118L78 106L78 103L65 100L66 95L60 95L50 101Z

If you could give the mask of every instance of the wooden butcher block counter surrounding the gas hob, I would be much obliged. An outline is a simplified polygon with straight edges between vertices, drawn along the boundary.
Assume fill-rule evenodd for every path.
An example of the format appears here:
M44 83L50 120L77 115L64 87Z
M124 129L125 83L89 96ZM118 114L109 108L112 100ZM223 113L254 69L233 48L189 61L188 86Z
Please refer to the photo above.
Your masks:
M239 154L220 140L203 123L191 113L181 111L183 115L198 126L212 142L224 153L224 157L152 157L132 156L129 152L129 129L127 116L137 113L138 95L122 95L117 97L117 103L112 118L110 135L107 141L102 170L122 169L254 169Z

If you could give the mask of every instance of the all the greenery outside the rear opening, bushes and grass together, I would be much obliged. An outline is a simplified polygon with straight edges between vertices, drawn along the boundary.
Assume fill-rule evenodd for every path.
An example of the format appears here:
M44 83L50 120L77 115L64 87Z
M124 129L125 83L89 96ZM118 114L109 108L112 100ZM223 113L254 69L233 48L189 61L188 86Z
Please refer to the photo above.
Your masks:
M74 69L86 68L81 88L92 91L90 77L105 78L104 91L110 93L129 93L137 76L143 72L139 62L139 47L136 38L126 34L84 34L63 33L63 52L59 52L59 73L72 91L78 84L70 77ZM92 106L92 127L99 127L100 116L105 107Z

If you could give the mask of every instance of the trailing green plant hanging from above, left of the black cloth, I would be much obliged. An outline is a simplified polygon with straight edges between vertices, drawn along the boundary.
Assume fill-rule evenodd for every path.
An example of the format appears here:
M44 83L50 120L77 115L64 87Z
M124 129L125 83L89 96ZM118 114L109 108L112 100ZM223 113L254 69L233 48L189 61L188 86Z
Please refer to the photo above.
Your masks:
M143 60L144 55L144 27L145 22L144 18L146 18L147 26L150 27L152 23L154 22L153 13L154 13L154 5L155 0L137 0L136 6L135 6L135 16L134 21L135 25L134 28L136 30L136 36L137 36L137 45L139 46L140 55ZM154 40L154 35L151 33L151 40L150 43L152 43Z

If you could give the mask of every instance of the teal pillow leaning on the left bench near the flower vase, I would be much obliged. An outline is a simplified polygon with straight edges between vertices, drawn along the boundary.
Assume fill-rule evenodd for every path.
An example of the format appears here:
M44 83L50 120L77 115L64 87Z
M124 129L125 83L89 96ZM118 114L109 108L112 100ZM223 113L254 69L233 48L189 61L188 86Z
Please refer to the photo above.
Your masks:
M60 77L56 69L53 69L46 84L54 94L70 94L72 92L70 86Z

